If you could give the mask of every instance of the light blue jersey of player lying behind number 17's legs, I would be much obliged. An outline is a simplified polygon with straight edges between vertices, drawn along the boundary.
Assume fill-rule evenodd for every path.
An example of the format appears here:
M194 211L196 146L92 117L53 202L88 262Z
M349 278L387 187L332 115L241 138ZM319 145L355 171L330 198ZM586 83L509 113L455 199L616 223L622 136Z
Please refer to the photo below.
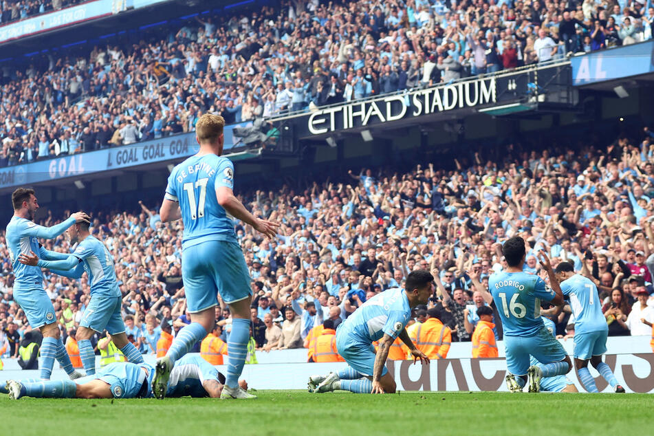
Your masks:
M205 380L218 380L225 384L225 380L219 380L220 375L218 370L201 356L187 354L175 362L166 397L208 397L202 383Z

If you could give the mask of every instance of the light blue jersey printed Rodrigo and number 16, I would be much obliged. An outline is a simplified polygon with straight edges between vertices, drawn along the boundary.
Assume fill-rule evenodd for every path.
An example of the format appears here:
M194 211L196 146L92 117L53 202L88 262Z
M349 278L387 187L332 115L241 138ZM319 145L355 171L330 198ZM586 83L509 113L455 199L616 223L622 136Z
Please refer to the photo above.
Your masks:
M488 287L507 336L537 334L543 327L541 300L552 301L556 296L543 279L526 272L492 274Z

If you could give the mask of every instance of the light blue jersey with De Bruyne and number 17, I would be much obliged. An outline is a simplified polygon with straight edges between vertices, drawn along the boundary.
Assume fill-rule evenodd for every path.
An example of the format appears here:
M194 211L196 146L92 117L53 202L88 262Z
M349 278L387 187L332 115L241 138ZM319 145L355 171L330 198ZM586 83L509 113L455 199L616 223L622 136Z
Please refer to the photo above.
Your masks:
M164 198L179 201L182 248L204 241L236 241L232 217L216 198L220 186L234 186L234 165L226 157L195 155L173 168Z

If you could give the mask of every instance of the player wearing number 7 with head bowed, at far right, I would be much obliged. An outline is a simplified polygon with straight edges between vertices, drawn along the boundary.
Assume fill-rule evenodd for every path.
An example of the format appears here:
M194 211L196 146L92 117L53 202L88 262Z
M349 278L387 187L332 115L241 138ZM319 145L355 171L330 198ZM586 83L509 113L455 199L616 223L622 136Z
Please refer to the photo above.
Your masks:
M588 370L588 361L611 385L613 391L624 392L618 384L609 365L602 362L607 352L609 326L602 314L602 304L595 283L574 273L569 262L556 266L556 277L561 283L561 292L570 300L574 314L574 364L579 380L589 392L598 392L595 380Z

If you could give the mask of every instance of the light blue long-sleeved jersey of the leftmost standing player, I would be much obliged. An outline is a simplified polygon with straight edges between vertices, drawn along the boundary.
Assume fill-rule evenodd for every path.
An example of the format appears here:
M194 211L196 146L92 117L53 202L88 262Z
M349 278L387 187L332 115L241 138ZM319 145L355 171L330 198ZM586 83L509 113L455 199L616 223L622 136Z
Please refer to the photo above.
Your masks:
M38 238L52 239L61 235L67 228L75 223L74 218L69 218L60 224L52 227L43 227L29 219L14 215L7 225L6 240L9 255L14 268L14 283L17 285L33 286L43 284L43 272L38 266L24 265L18 260L19 255L34 252L41 258L41 245Z

